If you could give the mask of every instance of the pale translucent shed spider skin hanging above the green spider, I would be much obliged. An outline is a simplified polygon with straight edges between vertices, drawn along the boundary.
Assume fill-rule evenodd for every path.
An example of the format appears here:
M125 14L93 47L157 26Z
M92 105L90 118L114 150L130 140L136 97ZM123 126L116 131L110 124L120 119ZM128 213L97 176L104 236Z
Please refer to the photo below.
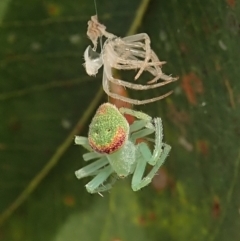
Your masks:
M172 91L146 100L131 99L111 92L109 81L124 87L135 90L148 90L164 86L178 78L165 75L161 66L165 61L160 61L150 46L150 38L146 33L131 35L124 38L119 38L112 33L106 31L106 27L98 22L97 16L92 16L88 21L87 35L92 41L94 47L88 46L84 52L86 72L88 75L96 75L99 68L103 65L103 89L110 97L119 99L135 105L147 104L170 95ZM106 37L101 53L97 53L98 38ZM123 81L113 77L112 68L122 70L139 69L135 80L137 80L143 71L149 72L154 78L148 81L148 85L141 85ZM163 82L157 83L159 79Z

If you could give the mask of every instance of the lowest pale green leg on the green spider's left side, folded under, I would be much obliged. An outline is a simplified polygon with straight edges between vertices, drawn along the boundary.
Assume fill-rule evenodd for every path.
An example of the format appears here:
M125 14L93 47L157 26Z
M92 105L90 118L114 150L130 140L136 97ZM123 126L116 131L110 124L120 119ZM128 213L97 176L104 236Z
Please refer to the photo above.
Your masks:
M106 166L99 172L87 185L86 189L89 193L104 192L112 188L115 179L107 184L103 184L108 177L113 173L112 167ZM101 186L102 185L102 186Z

